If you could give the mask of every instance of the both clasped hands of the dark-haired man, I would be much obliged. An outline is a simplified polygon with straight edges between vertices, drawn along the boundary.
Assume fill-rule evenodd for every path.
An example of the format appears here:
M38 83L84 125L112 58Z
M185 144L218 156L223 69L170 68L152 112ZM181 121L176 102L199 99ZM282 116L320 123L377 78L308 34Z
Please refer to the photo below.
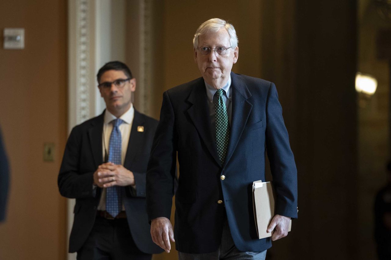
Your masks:
M135 185L135 176L122 165L106 162L99 165L94 175L94 185L100 188L108 188L114 185Z

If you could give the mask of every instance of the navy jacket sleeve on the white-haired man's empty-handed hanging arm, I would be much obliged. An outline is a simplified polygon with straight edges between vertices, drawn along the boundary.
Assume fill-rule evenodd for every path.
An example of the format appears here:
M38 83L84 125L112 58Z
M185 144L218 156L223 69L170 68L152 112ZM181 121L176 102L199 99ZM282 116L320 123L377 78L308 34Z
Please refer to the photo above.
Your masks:
M160 121L149 157L146 198L148 219L170 219L176 169L175 114L169 94L163 93Z

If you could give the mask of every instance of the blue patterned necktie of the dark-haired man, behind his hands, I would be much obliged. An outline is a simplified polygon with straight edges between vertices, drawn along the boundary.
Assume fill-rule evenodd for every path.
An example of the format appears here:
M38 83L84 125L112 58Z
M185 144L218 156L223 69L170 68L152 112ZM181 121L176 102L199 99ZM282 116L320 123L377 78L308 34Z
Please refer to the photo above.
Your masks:
M122 137L119 126L124 121L122 119L115 119L113 123L113 131L111 131L109 142L109 162L113 164L122 164ZM116 217L122 210L122 196L119 186L108 187L106 189L106 211L110 215Z

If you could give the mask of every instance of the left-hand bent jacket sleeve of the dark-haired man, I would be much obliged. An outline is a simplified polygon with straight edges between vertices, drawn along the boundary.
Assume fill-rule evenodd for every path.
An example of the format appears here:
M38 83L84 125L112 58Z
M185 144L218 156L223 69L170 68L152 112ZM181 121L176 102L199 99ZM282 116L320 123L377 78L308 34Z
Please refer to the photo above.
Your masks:
M91 198L93 192L93 172L81 173L81 134L72 129L66 142L63 161L61 163L57 184L60 194L66 198Z

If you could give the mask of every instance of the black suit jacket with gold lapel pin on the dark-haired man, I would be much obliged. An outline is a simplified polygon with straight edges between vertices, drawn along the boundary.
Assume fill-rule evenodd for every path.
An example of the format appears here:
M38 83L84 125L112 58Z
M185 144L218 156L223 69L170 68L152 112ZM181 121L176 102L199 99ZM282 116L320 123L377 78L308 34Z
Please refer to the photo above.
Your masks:
M66 143L58 175L61 195L76 198L74 224L69 239L69 251L81 248L93 227L102 189L93 191L93 173L103 163L102 130L104 114L72 129ZM152 242L145 211L145 172L158 121L135 110L124 167L135 175L136 192L131 186L122 187L130 233L136 246L144 253L161 253ZM143 132L137 126L144 126Z

